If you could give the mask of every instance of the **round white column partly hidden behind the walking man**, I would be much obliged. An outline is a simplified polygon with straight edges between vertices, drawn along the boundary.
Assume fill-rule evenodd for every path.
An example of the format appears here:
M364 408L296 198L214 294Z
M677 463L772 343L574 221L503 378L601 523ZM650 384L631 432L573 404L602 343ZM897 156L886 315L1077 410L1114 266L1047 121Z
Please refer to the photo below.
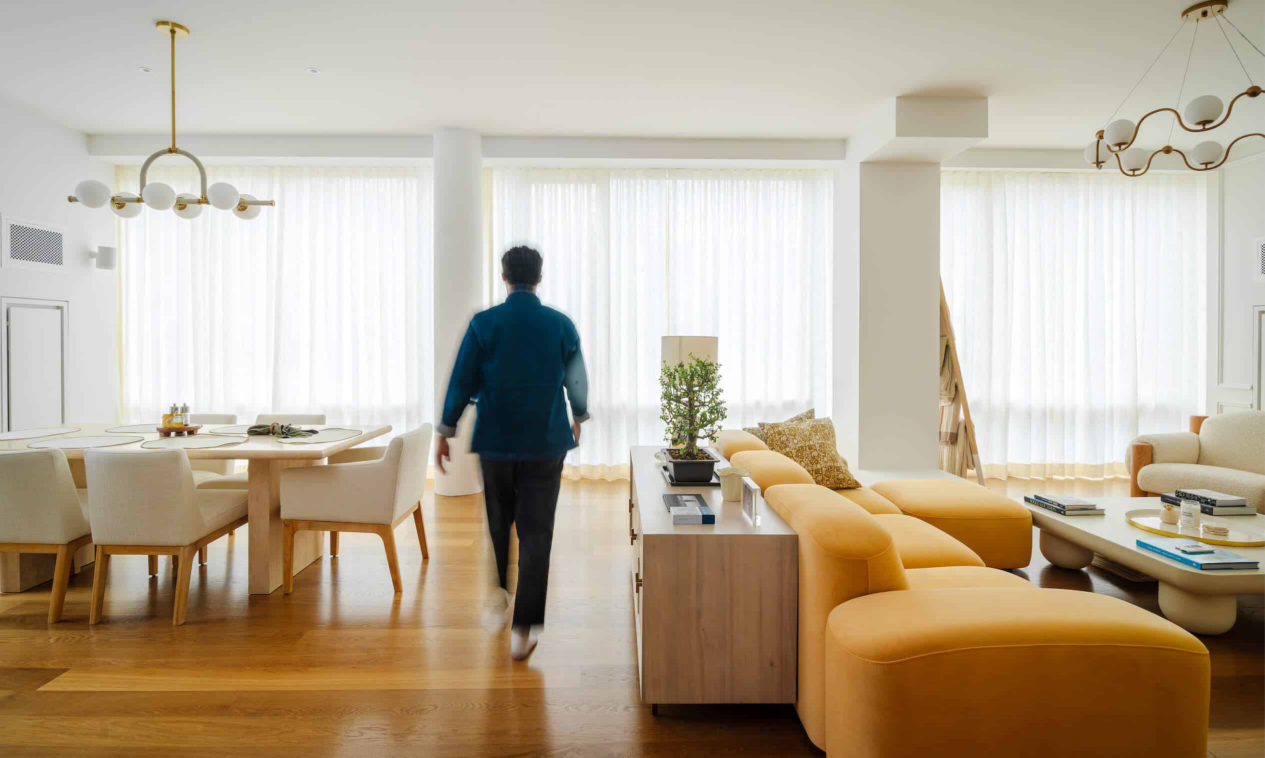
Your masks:
M483 306L483 143L468 129L440 129L435 155L435 416L466 326ZM436 418L436 423L438 423ZM474 409L468 408L450 441L448 474L435 471L436 495L471 495L483 489L478 456L469 452Z

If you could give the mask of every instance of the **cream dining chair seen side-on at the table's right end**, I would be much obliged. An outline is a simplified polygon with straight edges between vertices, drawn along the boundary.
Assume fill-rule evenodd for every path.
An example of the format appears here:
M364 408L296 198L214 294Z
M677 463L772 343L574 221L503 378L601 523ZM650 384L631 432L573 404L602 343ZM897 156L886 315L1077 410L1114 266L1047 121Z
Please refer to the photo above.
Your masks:
M395 528L412 514L421 557L429 558L421 498L431 426L400 435L376 461L286 469L281 472L281 580L288 595L295 584L295 532L369 532L382 537L391 584L398 593L400 560ZM333 552L333 551L331 551Z

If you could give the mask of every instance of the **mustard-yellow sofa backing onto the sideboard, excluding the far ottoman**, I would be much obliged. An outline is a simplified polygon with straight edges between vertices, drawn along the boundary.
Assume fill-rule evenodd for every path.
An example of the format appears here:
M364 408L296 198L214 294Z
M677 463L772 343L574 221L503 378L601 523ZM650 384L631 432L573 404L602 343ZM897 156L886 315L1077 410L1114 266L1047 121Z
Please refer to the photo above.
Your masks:
M1203 754L1208 652L1189 633L985 567L931 520L812 484L746 437L716 445L799 537L796 710L829 755ZM1125 726L1151 714L1163 729Z

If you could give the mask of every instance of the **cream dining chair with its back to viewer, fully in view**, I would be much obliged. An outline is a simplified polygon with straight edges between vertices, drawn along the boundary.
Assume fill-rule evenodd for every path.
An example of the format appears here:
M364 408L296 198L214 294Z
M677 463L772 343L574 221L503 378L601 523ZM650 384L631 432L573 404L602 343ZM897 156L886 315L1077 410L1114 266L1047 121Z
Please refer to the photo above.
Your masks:
M183 450L87 450L89 513L96 571L89 624L101 620L110 556L176 556L171 623L185 623L194 555L247 522L245 490L194 488Z

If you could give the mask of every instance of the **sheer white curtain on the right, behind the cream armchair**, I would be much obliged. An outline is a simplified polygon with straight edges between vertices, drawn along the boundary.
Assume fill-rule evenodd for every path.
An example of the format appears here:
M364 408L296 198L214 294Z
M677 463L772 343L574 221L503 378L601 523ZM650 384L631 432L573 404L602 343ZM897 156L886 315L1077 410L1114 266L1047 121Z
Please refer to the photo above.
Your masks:
M940 267L987 476L1125 474L1199 407L1204 179L945 171Z

